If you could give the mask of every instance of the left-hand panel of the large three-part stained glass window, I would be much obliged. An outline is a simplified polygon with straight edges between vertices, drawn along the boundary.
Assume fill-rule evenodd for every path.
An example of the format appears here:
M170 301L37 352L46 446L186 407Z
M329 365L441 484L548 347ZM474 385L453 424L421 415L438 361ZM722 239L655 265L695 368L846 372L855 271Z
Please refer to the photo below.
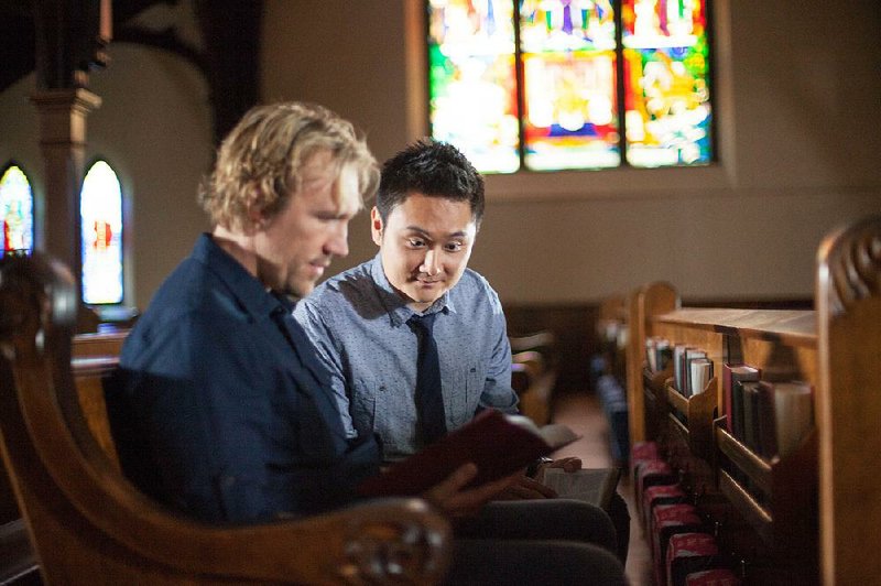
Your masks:
M511 0L428 2L432 135L480 171L520 167Z

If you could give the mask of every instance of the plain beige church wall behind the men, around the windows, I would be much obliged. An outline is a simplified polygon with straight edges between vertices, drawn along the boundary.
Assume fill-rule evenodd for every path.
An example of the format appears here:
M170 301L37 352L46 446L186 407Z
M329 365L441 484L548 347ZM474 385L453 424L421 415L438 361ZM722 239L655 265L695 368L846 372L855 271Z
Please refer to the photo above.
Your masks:
M414 1L267 0L264 99L322 102L378 159L393 154L423 132L406 53ZM488 177L471 265L503 301L592 302L659 279L689 297L809 295L823 235L881 213L875 0L715 6L720 162ZM104 105L88 151L117 164L131 196L130 302L143 307L207 227L195 204L211 154L207 88L176 56L124 44L110 55L91 77ZM39 193L32 88L33 76L0 95L0 161L24 164ZM335 269L373 254L366 214L350 248Z

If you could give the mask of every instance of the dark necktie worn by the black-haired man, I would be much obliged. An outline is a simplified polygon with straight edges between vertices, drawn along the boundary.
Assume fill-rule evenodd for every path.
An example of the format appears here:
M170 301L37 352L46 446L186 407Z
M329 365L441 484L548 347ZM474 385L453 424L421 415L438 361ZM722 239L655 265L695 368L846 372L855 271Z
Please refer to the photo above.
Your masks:
M416 416L417 435L424 445L447 433L444 395L440 392L440 360L432 334L436 316L433 313L410 318L420 338L416 358Z

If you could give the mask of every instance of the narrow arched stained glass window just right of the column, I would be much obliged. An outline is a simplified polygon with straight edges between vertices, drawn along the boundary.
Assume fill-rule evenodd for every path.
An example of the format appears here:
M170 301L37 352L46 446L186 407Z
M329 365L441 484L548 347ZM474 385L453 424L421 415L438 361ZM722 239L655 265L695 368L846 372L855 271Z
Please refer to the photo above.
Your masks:
M79 194L83 301L122 302L122 188L105 161L91 165Z

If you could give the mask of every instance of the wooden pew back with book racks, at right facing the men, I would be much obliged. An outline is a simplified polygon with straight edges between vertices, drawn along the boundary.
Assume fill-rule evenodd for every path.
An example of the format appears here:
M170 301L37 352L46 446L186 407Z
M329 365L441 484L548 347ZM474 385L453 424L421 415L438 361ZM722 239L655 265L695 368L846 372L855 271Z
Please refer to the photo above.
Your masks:
M655 444L747 584L881 579L881 217L823 241L815 295L814 311L696 308L652 283L628 300L631 444ZM677 388L675 361L649 368L657 339L706 351L703 392ZM814 423L792 449L732 433L725 365L811 389Z

